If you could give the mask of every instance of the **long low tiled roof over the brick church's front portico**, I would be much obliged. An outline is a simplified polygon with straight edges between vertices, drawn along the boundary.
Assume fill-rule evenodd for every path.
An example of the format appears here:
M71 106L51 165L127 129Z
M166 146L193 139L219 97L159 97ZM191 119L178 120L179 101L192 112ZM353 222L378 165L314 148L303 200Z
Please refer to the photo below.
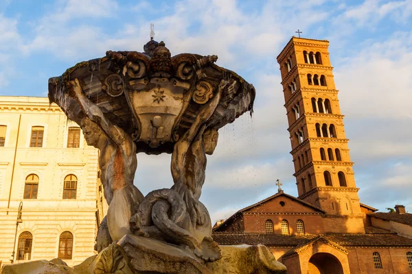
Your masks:
M342 247L412 247L412 239L395 234L324 234L324 235L281 235L281 234L236 234L216 233L212 238L219 245L266 245L267 247L293 247L308 245L321 236Z

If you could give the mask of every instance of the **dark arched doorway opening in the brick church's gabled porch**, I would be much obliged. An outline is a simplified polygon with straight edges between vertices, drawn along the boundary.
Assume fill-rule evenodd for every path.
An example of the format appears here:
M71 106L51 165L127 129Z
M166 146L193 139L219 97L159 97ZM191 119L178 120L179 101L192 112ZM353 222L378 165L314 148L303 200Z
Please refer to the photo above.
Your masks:
M308 263L310 274L343 274L342 264L330 253L316 253Z

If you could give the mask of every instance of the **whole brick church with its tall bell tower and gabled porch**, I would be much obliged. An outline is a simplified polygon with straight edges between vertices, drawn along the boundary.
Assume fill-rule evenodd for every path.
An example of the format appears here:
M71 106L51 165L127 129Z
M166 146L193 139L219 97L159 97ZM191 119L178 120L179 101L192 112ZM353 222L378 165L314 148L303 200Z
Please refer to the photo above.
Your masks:
M412 273L412 214L361 203L329 42L290 39L277 56L299 197L277 194L214 227L220 245L266 245L288 273Z

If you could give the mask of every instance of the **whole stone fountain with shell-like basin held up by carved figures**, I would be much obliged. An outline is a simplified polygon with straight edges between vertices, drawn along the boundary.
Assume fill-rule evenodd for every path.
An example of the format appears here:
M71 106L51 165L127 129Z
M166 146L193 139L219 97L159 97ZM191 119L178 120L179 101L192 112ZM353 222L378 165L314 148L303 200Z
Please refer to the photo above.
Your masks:
M190 53L172 57L164 42L150 40L144 53L107 51L104 58L80 62L49 79L50 102L100 149L100 179L109 205L96 239L99 255L77 269L285 272L266 247L219 247L199 201L206 154L214 152L218 129L252 112L255 99L253 86L214 64L217 59ZM144 197L134 186L139 152L172 153L170 189Z

